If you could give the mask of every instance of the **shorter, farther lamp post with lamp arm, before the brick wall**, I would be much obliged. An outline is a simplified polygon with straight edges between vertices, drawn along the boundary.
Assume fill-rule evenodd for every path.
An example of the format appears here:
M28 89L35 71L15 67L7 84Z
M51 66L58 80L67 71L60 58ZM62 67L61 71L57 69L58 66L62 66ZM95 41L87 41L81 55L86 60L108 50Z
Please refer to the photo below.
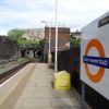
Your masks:
M51 21L50 22L47 22L47 21L41 21L41 23L46 23L46 27L47 27L47 24L49 23L49 24L51 24ZM50 47L51 47L51 27L50 27L51 25L49 25L49 27L48 27L48 32L49 32L49 49L48 49L48 64L50 65L50 63L51 63L51 58L52 58L52 56L51 56L51 51L50 51Z

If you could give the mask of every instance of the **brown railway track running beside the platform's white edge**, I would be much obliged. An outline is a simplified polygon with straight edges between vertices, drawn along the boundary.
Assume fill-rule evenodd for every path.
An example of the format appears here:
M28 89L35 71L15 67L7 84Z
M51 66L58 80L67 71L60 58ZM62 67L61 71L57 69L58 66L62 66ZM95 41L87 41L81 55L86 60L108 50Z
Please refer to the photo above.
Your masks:
M15 73L17 73L21 69L23 69L26 64L34 62L34 60L27 61L23 64L20 64L9 71L7 71L5 73L0 74L0 84L2 84L3 82L5 82L8 78L10 78L12 75L14 75Z

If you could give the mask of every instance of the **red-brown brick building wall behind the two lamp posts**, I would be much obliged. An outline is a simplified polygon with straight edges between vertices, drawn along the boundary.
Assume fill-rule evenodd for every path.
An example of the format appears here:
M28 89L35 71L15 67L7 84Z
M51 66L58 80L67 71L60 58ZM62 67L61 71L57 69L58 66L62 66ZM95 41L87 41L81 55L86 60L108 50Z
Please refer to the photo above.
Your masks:
M46 49L48 48L48 39L49 39L49 29L51 29L51 51L55 51L56 46L56 28L55 27L45 27L45 39L46 39ZM59 27L58 28L58 47L59 50L69 49L70 43L70 28Z

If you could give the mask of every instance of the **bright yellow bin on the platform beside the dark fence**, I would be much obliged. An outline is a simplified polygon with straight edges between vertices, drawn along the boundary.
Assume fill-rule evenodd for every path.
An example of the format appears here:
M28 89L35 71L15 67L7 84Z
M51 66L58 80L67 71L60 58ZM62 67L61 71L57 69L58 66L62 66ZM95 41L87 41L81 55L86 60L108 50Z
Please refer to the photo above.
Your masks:
M71 75L66 71L55 73L53 87L57 90L68 90L71 88Z

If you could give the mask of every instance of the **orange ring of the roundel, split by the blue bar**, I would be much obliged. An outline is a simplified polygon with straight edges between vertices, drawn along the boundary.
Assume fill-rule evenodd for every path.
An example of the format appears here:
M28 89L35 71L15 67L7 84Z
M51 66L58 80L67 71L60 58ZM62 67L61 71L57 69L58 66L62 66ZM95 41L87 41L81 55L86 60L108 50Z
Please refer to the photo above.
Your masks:
M85 56L88 55L88 51L92 47L95 47L97 49L97 51L99 52L99 57L105 58L105 50L102 45L100 44L100 41L98 41L97 39L92 39L87 47L86 47L86 51L85 51ZM87 63L85 63L85 70L87 73L88 78L94 82L94 83L98 83L101 81L104 73L105 73L105 68L99 68L96 74L93 74L89 70L88 70L88 65Z

